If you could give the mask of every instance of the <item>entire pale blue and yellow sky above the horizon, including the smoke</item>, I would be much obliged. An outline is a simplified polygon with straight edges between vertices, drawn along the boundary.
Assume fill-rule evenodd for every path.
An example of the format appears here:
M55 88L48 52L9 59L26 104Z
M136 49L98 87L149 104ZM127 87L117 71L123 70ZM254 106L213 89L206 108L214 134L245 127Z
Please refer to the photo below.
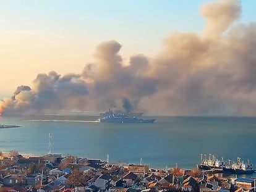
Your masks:
M0 1L0 113L104 111L129 101L146 114L256 115L254 7Z

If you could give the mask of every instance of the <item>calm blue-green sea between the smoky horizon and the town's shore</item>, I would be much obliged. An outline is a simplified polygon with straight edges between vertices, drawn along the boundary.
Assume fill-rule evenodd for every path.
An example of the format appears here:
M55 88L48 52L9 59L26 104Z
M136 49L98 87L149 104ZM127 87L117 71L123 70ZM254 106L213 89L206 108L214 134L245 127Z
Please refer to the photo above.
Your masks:
M151 118L151 117L143 117ZM68 154L154 168L192 169L201 154L237 157L256 169L256 117L154 117L155 123L99 123L89 115L0 119L20 125L0 129L0 150L20 154ZM49 139L51 134L51 139ZM255 175L256 177L256 175Z

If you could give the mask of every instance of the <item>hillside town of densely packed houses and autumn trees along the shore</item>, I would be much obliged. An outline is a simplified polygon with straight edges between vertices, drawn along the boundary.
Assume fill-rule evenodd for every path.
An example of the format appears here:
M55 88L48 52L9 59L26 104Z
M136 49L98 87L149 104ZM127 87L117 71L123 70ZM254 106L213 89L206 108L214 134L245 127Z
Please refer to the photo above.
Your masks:
M254 191L255 178L220 178L198 169L153 169L61 154L0 154L0 192Z

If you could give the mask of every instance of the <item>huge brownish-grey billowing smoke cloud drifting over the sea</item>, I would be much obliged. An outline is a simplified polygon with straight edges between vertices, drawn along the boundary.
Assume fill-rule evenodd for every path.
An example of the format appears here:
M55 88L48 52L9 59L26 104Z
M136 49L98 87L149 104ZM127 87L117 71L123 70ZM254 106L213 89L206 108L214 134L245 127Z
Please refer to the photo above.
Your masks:
M236 23L236 0L203 4L200 13L202 34L172 31L157 56L138 54L130 65L119 55L121 44L103 42L80 74L39 74L31 88L20 86L0 101L0 113L124 107L161 115L256 115L256 23Z

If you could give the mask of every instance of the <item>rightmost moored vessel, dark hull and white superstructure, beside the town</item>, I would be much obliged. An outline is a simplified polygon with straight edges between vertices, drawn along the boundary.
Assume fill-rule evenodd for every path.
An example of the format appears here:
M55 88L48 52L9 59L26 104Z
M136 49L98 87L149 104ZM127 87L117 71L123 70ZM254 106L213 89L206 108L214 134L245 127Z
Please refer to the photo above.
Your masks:
M232 165L223 167L223 173L227 174L250 174L255 173L255 169L252 169L252 164L250 164L249 160L246 163L244 161L241 162L241 158L237 157L237 162Z

